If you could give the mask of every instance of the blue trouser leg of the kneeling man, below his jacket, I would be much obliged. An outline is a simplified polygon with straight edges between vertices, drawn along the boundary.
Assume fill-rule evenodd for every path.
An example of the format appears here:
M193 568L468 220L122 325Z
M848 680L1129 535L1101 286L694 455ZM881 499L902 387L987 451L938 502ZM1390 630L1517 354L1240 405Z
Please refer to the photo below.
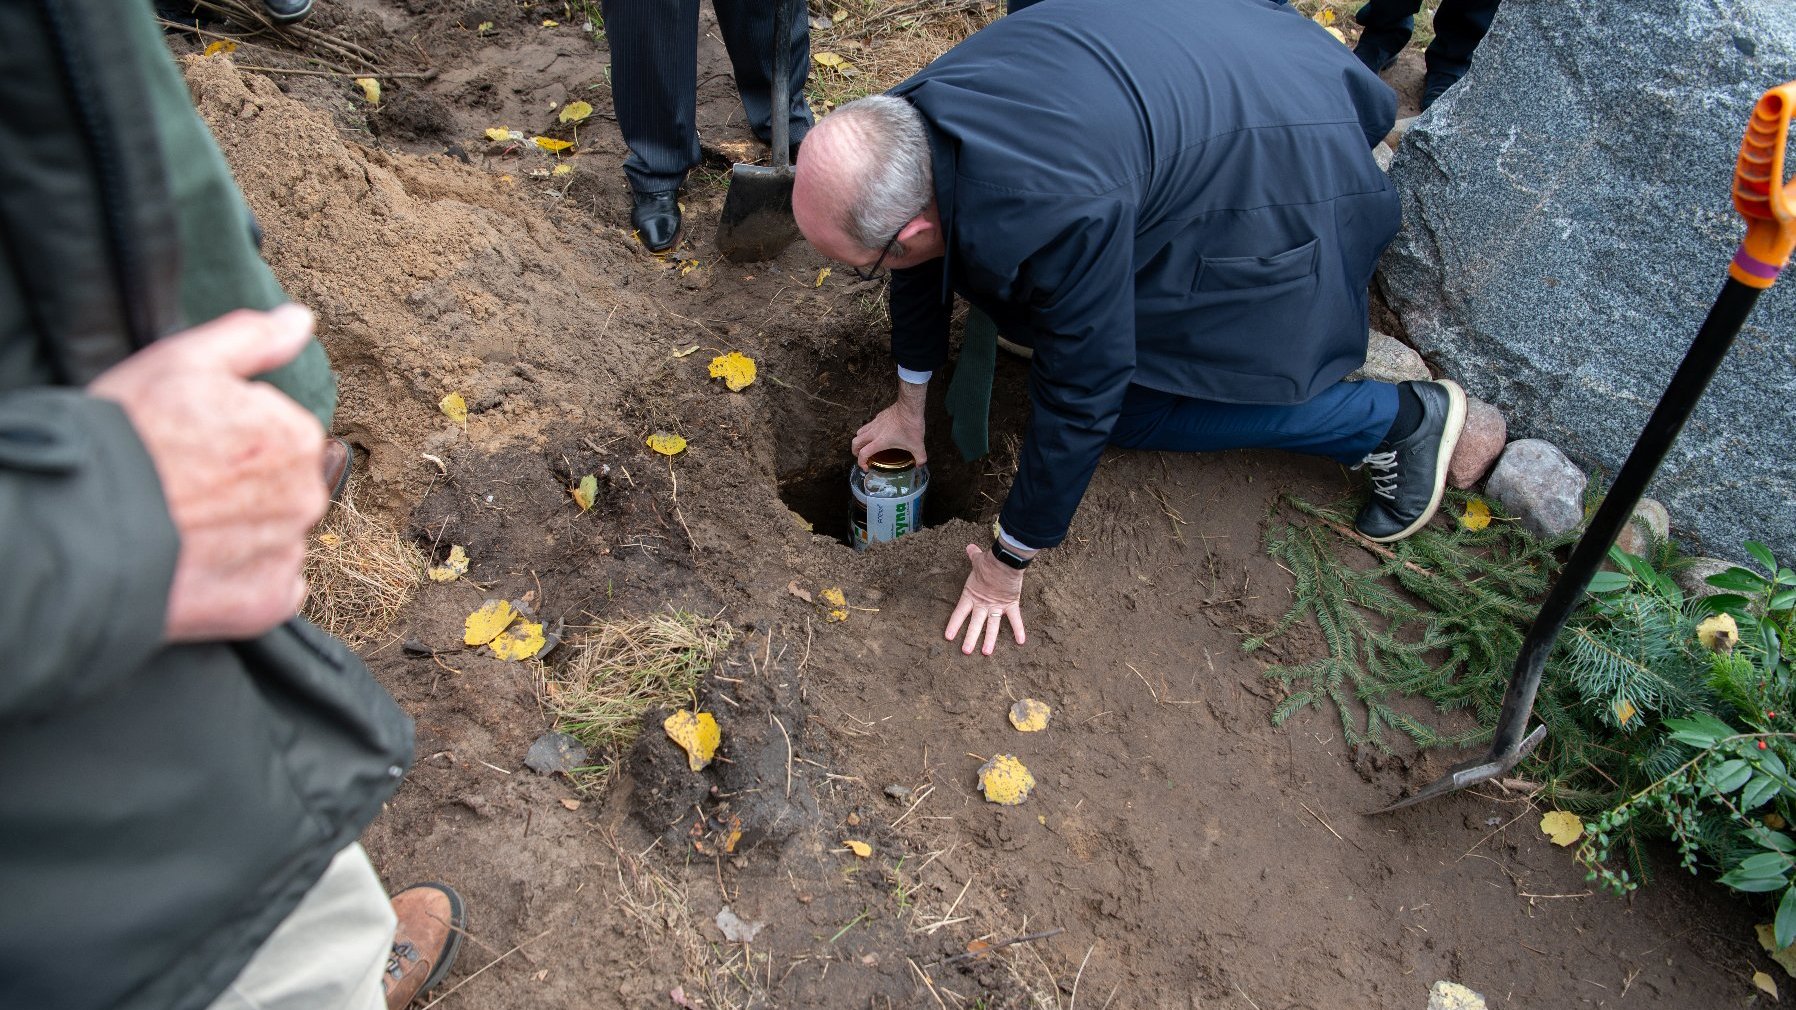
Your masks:
M1306 403L1218 403L1130 386L1110 444L1124 449L1216 453L1286 449L1358 464L1397 421L1397 386L1334 383Z

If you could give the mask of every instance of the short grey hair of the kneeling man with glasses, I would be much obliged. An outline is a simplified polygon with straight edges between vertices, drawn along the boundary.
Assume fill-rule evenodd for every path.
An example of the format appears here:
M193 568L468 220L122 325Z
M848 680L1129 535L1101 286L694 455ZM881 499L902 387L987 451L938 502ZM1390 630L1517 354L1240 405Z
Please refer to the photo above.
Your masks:
M842 230L862 248L882 248L934 199L923 115L903 99L869 95L830 113L853 131L857 190L842 208Z

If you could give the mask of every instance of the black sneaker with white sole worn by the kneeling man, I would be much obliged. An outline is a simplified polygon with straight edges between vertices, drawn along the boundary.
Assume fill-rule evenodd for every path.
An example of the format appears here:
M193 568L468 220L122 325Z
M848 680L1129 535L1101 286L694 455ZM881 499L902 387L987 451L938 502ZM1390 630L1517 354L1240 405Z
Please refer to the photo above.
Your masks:
M1466 390L1457 383L1403 385L1422 401L1422 422L1408 439L1385 442L1354 464L1370 471L1372 492L1352 525L1374 543L1401 541L1435 518L1448 487L1448 460L1466 428Z

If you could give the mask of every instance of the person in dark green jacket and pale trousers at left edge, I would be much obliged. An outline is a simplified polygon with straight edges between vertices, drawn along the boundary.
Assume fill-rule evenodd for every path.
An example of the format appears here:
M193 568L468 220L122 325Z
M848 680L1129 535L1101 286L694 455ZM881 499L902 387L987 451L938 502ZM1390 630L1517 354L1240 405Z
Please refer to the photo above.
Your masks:
M0 1006L402 1005L460 900L388 902L411 721L293 616L311 313L145 0L0 5Z

